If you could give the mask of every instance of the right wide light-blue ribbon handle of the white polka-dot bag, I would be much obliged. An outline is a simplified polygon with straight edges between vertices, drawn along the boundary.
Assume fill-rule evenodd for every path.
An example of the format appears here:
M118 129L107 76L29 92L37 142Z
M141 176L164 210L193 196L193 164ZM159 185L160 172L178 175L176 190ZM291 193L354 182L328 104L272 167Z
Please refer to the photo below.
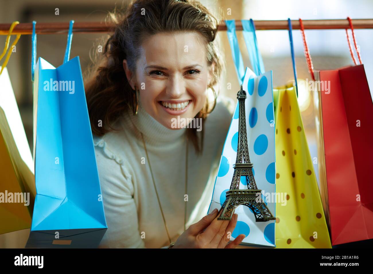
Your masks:
M245 44L247 51L249 53L251 66L253 67L253 71L256 75L261 75L265 72L263 59L261 57L258 42L255 34L255 25L252 19L249 20L241 20L242 28L245 39Z

